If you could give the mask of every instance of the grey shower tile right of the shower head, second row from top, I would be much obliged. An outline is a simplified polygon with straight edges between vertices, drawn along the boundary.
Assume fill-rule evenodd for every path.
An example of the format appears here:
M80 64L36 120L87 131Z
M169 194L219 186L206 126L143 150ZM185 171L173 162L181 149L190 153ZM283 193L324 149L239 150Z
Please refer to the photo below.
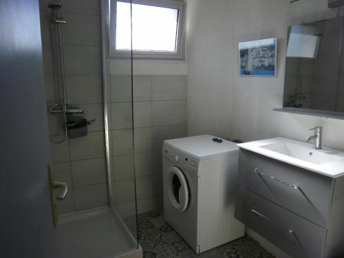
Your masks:
M102 45L99 16L63 12L63 18L67 22L62 27L64 44Z

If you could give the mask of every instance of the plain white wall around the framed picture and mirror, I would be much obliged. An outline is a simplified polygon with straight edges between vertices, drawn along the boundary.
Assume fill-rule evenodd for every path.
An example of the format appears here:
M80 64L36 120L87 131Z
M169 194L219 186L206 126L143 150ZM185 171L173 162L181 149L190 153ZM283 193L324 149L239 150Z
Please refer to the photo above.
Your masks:
M189 134L257 140L303 140L321 125L323 144L344 149L344 121L272 109L282 106L289 25L336 16L327 0L189 0L187 60ZM277 37L275 78L240 77L238 43Z

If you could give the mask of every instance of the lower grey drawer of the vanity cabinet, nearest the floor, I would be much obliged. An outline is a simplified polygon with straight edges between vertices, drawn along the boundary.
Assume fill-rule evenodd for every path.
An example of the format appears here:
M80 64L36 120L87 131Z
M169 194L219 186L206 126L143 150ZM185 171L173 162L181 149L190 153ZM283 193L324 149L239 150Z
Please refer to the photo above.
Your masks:
M322 257L324 228L241 186L235 217L292 257Z

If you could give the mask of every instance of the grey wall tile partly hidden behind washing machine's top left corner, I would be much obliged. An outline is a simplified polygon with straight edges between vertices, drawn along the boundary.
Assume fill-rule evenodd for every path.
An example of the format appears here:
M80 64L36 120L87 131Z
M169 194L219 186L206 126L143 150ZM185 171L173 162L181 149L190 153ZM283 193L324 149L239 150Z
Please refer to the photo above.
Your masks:
M187 136L187 126L184 125L166 125L153 127L153 150L162 149L164 140L182 138Z

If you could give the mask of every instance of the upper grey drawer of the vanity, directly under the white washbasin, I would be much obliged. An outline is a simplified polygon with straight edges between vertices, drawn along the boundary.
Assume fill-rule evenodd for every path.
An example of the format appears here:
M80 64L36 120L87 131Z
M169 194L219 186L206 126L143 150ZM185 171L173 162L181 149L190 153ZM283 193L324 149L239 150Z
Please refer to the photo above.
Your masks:
M240 149L238 180L246 189L327 227L331 178Z

